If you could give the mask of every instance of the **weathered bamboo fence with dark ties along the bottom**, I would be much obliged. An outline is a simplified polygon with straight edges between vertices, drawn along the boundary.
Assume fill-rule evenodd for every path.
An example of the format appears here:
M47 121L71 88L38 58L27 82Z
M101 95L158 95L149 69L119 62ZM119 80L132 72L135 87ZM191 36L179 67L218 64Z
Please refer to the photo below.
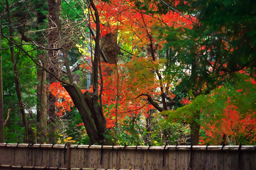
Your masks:
M0 170L256 170L256 146L0 144Z

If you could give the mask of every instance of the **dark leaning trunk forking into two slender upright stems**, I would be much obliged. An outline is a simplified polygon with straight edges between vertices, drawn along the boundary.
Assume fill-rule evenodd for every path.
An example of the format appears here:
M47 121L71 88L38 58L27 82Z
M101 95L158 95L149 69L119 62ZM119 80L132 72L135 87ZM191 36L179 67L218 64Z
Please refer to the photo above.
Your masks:
M56 4L55 4L56 5ZM57 15L57 25L58 25L58 39L60 40L60 48L64 56L64 65L68 74L69 83L64 85L64 88L68 91L71 99L74 102L75 107L79 111L80 117L85 125L87 134L90 138L91 144L96 142L102 144L107 143L104 138L104 132L106 130L106 119L102 113L102 108L98 103L98 62L100 57L100 46L99 46L99 14L96 6L91 1L91 6L95 11L96 17L96 39L95 39L95 51L93 60L93 93L82 93L81 89L77 87L74 83L71 71L69 69L68 52L66 49L66 44L63 40L63 35L61 32L60 16L58 12Z

